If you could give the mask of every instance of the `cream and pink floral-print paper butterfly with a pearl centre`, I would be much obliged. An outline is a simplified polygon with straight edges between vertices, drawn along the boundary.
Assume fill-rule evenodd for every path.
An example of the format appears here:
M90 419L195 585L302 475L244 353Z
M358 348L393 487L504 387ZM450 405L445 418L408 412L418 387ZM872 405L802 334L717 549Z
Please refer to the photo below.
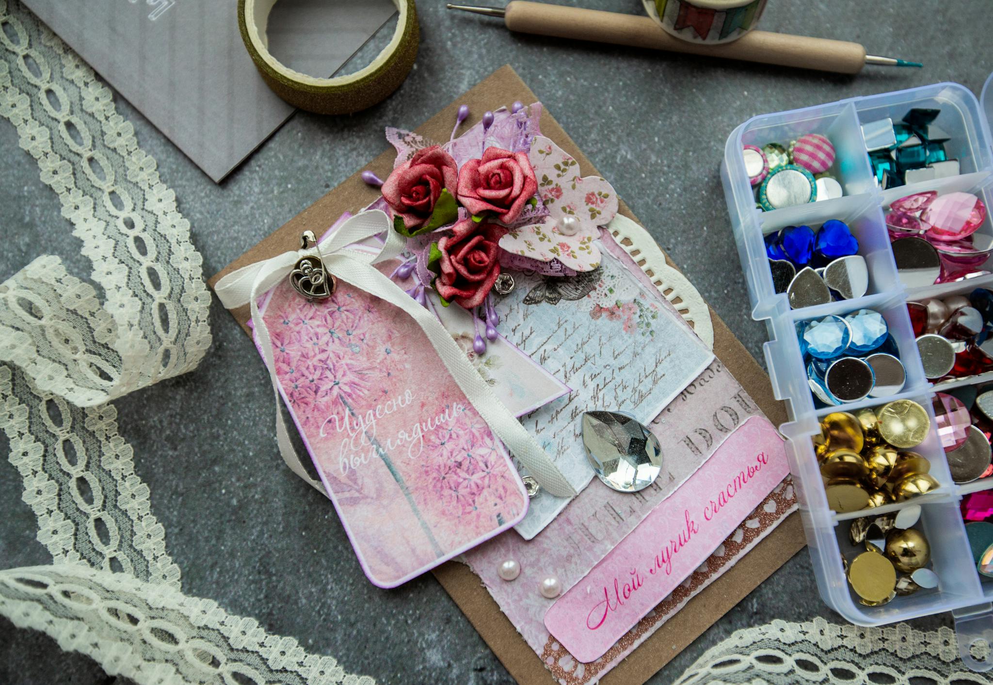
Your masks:
M548 216L540 224L511 229L499 247L539 261L558 259L577 271L600 265L594 245L600 226L618 212L618 197L599 176L579 175L579 163L544 136L535 136L528 155ZM459 177L460 187L462 177Z

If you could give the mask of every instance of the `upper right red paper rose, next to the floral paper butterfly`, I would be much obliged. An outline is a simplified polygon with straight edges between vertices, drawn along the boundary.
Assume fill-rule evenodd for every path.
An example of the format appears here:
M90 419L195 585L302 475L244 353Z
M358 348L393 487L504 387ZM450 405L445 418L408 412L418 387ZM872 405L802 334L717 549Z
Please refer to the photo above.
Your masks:
M494 212L509 224L538 189L534 169L523 152L488 147L482 159L470 159L459 171L459 202L472 212Z

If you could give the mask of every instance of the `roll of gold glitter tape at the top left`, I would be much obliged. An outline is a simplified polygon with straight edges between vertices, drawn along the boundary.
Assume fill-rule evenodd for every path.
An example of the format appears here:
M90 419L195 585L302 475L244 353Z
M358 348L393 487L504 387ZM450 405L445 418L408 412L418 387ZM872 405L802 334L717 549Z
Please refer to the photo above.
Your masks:
M389 45L354 74L320 79L281 64L269 53L265 29L276 0L238 0L241 40L265 83L295 107L319 114L349 114L386 98L403 83L417 57L419 28L414 0L393 0L399 12Z

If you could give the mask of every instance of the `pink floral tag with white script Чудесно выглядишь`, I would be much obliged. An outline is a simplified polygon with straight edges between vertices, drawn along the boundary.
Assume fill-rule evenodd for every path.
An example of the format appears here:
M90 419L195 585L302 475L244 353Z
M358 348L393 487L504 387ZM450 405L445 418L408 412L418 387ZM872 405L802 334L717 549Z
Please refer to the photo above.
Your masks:
M409 316L348 283L307 300L285 281L263 316L280 391L374 585L400 585L523 518L502 444Z

